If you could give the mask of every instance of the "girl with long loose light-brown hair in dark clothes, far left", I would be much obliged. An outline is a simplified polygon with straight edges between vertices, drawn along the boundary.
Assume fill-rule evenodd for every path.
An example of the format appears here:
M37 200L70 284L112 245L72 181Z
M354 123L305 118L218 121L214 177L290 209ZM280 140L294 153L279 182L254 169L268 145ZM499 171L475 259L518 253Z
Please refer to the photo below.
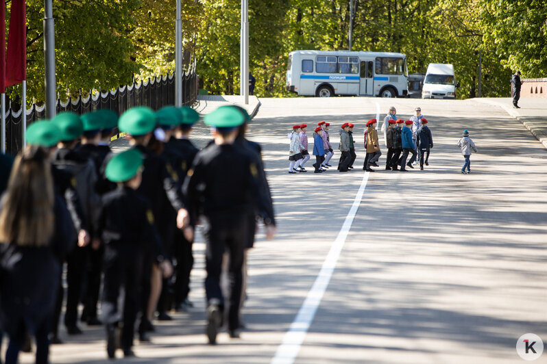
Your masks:
M5 363L17 363L26 333L36 337L36 363L47 363L48 326L73 227L53 193L47 152L27 146L17 155L0 198L1 326L10 337Z

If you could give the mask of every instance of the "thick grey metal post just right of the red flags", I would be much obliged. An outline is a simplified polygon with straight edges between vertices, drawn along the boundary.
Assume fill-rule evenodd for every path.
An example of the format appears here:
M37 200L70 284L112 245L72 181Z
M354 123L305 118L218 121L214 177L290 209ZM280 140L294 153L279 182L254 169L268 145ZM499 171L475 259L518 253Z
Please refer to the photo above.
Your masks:
M55 83L55 27L53 23L53 0L44 0L44 60L45 60L45 106L46 118L57 114ZM26 105L25 105L26 107Z

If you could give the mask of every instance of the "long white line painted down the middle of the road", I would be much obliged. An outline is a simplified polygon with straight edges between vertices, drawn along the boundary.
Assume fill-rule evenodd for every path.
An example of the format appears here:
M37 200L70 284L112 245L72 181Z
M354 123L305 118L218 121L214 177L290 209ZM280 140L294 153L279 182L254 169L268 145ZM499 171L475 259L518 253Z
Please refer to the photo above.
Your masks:
M328 255L323 262L323 266L321 267L321 271L319 271L319 275L315 278L313 287L311 287L308 292L308 296L306 296L306 300L304 300L302 307L300 307L300 311L298 311L289 331L285 334L283 341L276 352L276 356L273 356L273 359L271 359L271 364L293 364L295 361L296 356L300 351L300 346L302 346L306 333L308 333L308 329L313 322L315 312L328 287L332 272L334 272L336 268L336 263L344 246L345 238L348 237L353 219L355 218L355 214L363 199L363 193L365 192L365 187L367 187L368 179L369 172L365 172L363 181L361 181L361 187L359 187L348 216L345 217L342 229L340 229L335 242L332 243Z

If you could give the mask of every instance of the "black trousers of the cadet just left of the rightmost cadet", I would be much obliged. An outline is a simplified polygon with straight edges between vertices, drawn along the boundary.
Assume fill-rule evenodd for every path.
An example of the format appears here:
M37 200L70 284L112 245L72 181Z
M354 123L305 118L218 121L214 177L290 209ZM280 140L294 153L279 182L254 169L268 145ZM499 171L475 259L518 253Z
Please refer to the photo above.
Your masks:
M180 229L175 231L175 244L173 252L177 265L175 265L175 287L174 300L175 307L181 304L188 298L190 293L190 274L194 265L194 257L192 255L192 242L189 242L184 237Z

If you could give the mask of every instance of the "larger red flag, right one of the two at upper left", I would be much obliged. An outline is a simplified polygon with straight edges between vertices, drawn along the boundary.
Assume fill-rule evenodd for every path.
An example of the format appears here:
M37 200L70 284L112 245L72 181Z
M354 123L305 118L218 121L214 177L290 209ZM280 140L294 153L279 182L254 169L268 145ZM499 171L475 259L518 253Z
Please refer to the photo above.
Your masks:
M27 7L25 2L25 0L12 0L8 62L5 65L6 87L27 79Z

